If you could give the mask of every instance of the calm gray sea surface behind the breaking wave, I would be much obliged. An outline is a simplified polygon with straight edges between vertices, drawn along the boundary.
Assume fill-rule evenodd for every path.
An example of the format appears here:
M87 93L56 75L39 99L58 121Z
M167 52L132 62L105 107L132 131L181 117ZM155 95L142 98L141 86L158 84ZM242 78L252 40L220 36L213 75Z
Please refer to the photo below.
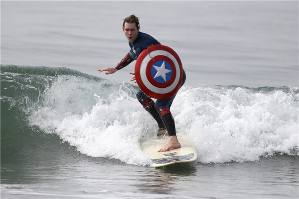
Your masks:
M174 49L187 85L299 84L298 1L1 1L1 64L67 67L129 82L123 18Z

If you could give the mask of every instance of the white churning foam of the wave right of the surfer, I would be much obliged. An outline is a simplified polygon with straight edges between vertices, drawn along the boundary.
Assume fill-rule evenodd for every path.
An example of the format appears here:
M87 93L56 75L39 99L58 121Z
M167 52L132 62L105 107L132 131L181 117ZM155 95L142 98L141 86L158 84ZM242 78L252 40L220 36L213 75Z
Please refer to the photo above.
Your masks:
M182 90L172 112L200 162L257 161L298 156L298 97L298 88L200 85Z

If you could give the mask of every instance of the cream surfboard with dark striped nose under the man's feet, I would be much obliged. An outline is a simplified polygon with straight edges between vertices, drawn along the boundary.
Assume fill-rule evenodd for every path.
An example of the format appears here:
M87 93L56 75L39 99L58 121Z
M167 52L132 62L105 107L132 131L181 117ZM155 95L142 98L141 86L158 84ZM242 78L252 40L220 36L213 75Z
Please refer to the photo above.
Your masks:
M188 137L186 135L177 135L177 139L181 144L181 148L170 149L166 152L158 152L158 150L166 144L168 136L158 136L143 144L142 149L149 155L153 167L190 163L197 160L195 147Z

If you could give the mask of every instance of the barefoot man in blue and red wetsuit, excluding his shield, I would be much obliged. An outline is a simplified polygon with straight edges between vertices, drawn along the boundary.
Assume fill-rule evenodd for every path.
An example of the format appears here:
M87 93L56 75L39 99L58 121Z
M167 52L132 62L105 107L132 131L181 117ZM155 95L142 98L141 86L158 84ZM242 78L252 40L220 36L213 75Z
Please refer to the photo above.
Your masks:
M147 49L151 45L159 45L156 39L154 39L149 34L144 32L140 32L140 24L139 17L134 14L128 16L124 19L123 23L123 31L125 32L125 36L129 41L129 45L131 50L129 53L121 60L121 62L114 68L102 68L99 69L99 72L107 71L105 74L113 74L116 71L126 67L134 60L137 60L138 56L142 51ZM136 77L135 73L130 73L134 75L130 81L135 81ZM183 81L181 86L185 83L186 75L185 71L183 71ZM148 95L146 95L142 90L137 93L138 101L143 105L144 109L149 112L149 114L155 119L158 124L159 130L157 132L157 136L159 135L168 135L168 141L166 145L161 148L158 152L165 152L169 149L177 149L180 148L181 145L177 140L176 132L175 132L175 124L174 119L172 117L171 112L169 111L172 101L174 100L175 95L169 99L159 100L157 99L154 102Z

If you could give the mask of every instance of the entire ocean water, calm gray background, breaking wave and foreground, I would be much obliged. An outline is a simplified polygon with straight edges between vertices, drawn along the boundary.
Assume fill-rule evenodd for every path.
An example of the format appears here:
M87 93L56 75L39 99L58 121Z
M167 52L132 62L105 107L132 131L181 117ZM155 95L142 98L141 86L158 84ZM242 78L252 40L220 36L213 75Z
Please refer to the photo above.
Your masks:
M1 1L2 199L298 199L298 1ZM155 169L122 18L180 56L198 160Z

